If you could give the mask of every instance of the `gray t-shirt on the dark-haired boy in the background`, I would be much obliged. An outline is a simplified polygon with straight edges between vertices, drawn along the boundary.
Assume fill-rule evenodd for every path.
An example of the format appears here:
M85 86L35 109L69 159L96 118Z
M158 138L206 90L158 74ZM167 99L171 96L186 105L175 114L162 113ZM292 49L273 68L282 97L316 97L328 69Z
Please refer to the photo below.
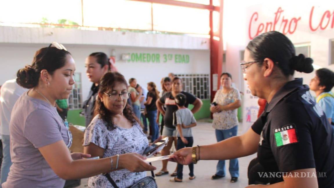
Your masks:
M184 124L185 126L188 126L192 123L196 123L196 119L194 117L194 114L188 109L188 108L181 108L178 109L175 112L176 116L176 123L177 124ZM191 128L182 128L182 135L184 137L190 137L192 136ZM180 136L180 132L177 131L177 136Z

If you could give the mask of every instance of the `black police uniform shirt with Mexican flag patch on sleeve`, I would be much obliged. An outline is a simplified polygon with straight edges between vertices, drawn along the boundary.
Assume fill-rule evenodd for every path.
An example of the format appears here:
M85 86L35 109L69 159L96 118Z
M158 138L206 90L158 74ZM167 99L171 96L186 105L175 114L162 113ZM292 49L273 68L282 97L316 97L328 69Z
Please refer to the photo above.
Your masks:
M319 187L334 187L333 128L302 84L302 78L286 83L252 125L261 135L258 159L271 184L289 177L289 171L315 168L316 174L297 176L316 176Z

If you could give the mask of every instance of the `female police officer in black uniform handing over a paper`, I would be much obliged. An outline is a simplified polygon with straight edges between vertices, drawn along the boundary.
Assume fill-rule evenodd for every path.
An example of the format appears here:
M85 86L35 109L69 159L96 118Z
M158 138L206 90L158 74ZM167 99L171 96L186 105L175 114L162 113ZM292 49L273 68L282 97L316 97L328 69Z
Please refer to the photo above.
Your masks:
M333 129L309 87L302 85L303 79L293 77L295 70L312 72L313 60L295 56L292 42L270 31L248 43L244 61L241 66L249 89L268 101L264 113L245 134L184 148L173 160L188 164L258 152L271 185L249 187L334 187Z

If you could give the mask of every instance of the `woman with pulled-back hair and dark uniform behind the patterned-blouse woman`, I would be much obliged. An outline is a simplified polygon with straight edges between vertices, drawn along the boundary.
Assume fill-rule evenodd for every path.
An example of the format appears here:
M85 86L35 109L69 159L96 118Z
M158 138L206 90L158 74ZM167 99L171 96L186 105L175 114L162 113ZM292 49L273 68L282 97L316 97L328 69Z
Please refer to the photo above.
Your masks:
M94 117L94 107L96 96L98 95L100 79L104 74L110 71L110 59L103 52L95 52L86 58L85 67L89 81L93 82L87 100L84 101L82 105L87 127Z

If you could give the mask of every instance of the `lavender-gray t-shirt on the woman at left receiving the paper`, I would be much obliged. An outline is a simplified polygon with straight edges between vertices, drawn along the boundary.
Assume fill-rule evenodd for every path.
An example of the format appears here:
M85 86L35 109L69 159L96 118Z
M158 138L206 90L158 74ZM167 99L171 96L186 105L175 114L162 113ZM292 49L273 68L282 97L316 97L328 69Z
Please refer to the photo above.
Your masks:
M25 92L14 105L9 130L13 165L2 187L62 188L65 180L53 172L38 150L59 140L68 148L72 144L72 135L56 107Z

